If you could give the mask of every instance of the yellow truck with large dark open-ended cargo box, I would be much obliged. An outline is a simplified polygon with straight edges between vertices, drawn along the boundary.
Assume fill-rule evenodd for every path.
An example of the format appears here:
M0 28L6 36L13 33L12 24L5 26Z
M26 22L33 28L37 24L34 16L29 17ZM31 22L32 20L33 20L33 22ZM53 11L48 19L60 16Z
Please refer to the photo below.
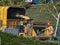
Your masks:
M25 15L25 8L0 6L0 30L3 28L15 28L18 19L20 19L16 17L16 14Z

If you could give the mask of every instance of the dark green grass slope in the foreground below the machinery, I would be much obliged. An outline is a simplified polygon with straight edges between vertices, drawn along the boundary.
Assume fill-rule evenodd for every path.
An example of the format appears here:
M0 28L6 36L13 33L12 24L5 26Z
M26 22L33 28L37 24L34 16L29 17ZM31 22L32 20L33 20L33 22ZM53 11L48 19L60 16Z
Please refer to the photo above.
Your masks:
M8 33L0 32L1 45L57 45L48 41L33 40L30 38L18 37Z

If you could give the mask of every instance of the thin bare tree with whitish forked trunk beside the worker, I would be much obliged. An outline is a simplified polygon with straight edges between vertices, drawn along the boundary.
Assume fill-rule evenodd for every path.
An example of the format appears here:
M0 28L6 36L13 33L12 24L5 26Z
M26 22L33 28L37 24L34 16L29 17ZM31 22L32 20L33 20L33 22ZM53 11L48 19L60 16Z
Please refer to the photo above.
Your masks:
M60 12L57 10L57 7L54 5L53 0L51 0L51 3L53 5L53 8L56 11L57 17L54 15L54 13L52 13L52 15L54 15L55 19L56 19L56 28L55 28L55 33L54 36L56 36L56 32L57 32L57 28L58 28L58 24L59 24L59 18L60 18ZM49 10L50 12L52 12L51 10Z

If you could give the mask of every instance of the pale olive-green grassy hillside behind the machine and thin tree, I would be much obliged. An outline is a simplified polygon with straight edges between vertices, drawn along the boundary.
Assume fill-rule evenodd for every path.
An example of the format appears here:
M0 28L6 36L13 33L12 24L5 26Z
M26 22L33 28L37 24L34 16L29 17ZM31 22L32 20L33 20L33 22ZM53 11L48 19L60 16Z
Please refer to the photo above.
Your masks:
M40 12L42 7L46 9L45 5L32 5L31 8L27 10L26 15L33 18L34 22L47 22L47 20L50 20L51 24L55 26L56 19L48 11Z

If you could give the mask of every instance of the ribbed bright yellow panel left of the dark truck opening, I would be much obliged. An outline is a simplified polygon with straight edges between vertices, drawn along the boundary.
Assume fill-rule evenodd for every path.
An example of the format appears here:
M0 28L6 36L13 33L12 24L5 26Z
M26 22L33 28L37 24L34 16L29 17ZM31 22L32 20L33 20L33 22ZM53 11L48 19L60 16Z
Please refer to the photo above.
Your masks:
M7 9L9 7L7 6L0 6L0 21L2 22L0 26L0 30L2 28L6 28L6 25L7 25Z

